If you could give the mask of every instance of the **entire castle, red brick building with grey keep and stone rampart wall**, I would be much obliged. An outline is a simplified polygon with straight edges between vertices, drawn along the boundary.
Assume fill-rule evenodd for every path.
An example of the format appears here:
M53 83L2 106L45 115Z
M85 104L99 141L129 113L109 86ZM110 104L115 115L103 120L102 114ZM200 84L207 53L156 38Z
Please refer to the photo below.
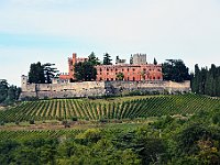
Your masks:
M62 74L54 78L52 84L29 84L28 76L21 76L22 92L20 99L25 97L37 98L73 98L89 96L107 96L131 91L165 91L172 94L176 91L190 91L190 81L173 82L164 81L162 65L147 64L145 54L134 54L130 58L130 64L125 59L117 57L116 65L98 65L96 81L70 82L75 80L74 65L88 61L78 58L76 53L68 58L68 74ZM117 74L124 75L123 80L117 79Z

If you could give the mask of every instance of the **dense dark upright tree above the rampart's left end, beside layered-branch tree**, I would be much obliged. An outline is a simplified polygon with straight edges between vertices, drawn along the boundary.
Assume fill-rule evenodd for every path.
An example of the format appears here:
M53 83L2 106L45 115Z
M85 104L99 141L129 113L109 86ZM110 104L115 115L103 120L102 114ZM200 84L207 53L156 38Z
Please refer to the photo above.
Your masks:
M44 76L44 66L41 65L40 62L36 64L31 64L30 72L29 72L29 82L30 84L44 84L45 76Z

